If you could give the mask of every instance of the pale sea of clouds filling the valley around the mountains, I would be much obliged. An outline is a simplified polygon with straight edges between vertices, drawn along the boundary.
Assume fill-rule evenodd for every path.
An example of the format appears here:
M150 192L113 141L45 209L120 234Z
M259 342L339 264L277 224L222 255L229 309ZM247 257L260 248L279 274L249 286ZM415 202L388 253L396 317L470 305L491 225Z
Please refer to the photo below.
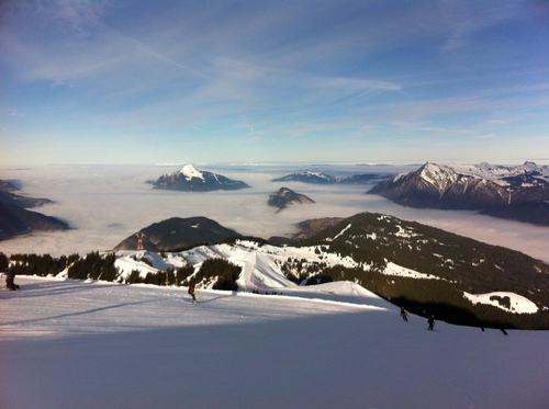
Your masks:
M170 217L205 216L242 235L269 238L295 231L295 223L317 217L347 217L373 212L415 220L477 240L522 251L549 262L549 228L482 216L474 212L415 209L381 196L365 194L372 185L313 185L272 182L305 170L344 177L363 173L400 173L418 166L367 164L200 164L242 180L250 189L232 192L172 192L155 190L147 181L179 170L182 164L157 166L44 166L0 167L0 179L21 188L19 194L47 197L54 203L37 212L67 221L71 229L34 234L0 241L4 253L86 254L109 250L153 223ZM269 195L287 186L314 200L277 213Z

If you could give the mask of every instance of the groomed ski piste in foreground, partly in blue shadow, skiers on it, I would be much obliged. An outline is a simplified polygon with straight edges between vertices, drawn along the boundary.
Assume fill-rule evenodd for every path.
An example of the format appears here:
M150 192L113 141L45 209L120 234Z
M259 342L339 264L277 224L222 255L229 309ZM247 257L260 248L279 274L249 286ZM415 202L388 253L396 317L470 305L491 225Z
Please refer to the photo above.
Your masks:
M354 283L191 304L184 287L15 281L2 409L549 408L549 332L428 331Z

